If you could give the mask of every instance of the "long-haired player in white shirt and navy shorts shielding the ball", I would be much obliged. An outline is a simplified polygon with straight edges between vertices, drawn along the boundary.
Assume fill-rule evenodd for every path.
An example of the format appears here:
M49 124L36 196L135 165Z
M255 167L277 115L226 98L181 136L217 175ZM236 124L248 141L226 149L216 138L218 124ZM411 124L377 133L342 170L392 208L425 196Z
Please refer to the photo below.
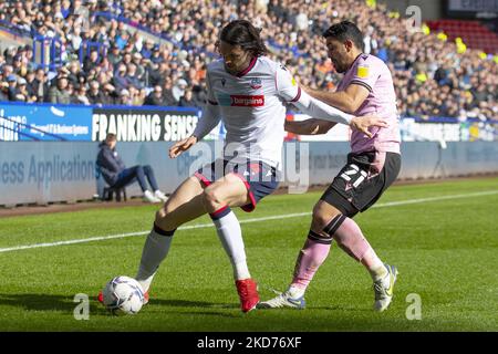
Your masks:
M220 33L222 59L207 69L208 102L194 134L169 149L175 158L203 139L222 119L227 136L222 160L187 178L157 211L148 235L136 280L147 292L154 274L166 258L175 230L209 214L230 258L241 302L248 312L259 302L251 279L240 225L230 208L246 211L278 186L284 136L284 102L323 119L349 124L370 134L369 126L386 126L376 116L355 117L333 108L301 91L284 66L264 56L259 31L249 21L236 20Z

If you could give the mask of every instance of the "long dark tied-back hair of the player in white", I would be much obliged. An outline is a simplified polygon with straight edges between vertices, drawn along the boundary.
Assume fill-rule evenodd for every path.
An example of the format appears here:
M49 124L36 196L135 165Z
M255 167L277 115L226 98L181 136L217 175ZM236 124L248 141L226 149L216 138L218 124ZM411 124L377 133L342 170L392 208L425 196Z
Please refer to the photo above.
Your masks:
M257 29L247 20L235 20L221 30L220 40L231 45L240 45L242 50L259 56L268 52L260 32L261 29Z

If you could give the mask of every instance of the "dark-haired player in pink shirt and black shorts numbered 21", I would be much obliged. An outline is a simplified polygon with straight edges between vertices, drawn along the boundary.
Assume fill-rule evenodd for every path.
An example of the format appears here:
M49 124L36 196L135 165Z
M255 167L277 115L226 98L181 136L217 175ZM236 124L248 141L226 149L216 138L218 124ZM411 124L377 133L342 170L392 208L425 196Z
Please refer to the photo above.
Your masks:
M374 282L374 310L384 311L393 298L397 270L381 261L352 218L374 205L400 173L401 139L393 79L382 60L362 53L363 35L354 23L334 24L323 37L335 70L344 76L334 93L305 91L354 115L376 114L388 126L371 127L371 136L352 132L347 163L314 206L311 229L299 253L289 289L261 302L259 308L303 309L304 292L335 240L369 270ZM287 122L286 129L294 134L324 134L334 125L312 118Z

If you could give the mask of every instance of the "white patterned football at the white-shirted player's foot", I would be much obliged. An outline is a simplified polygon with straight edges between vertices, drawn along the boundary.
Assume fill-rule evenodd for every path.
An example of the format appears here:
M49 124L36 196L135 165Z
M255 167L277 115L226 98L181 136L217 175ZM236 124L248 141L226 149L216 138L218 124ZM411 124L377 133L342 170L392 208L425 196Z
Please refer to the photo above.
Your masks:
M104 305L113 314L136 314L144 303L144 290L133 278L113 278L103 289Z

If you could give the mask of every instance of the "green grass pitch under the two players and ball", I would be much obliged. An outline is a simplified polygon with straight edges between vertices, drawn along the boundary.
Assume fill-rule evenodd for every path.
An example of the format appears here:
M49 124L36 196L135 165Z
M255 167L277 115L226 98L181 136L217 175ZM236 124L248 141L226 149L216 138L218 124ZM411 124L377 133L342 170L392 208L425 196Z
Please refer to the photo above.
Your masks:
M248 220L307 212L320 195L270 196L255 212L237 215ZM392 201L402 202L386 205ZM305 310L242 314L228 258L215 229L204 227L177 231L148 305L135 316L112 316L95 295L112 277L135 275L144 235L4 249L146 231L157 206L2 218L0 331L498 331L498 179L393 186L378 205L355 220L380 257L400 270L384 313L372 311L367 272L333 244ZM242 223L262 299L291 280L310 218ZM209 222L204 217L189 225ZM74 319L77 293L91 299L89 320ZM411 294L419 295L421 320L406 316Z

